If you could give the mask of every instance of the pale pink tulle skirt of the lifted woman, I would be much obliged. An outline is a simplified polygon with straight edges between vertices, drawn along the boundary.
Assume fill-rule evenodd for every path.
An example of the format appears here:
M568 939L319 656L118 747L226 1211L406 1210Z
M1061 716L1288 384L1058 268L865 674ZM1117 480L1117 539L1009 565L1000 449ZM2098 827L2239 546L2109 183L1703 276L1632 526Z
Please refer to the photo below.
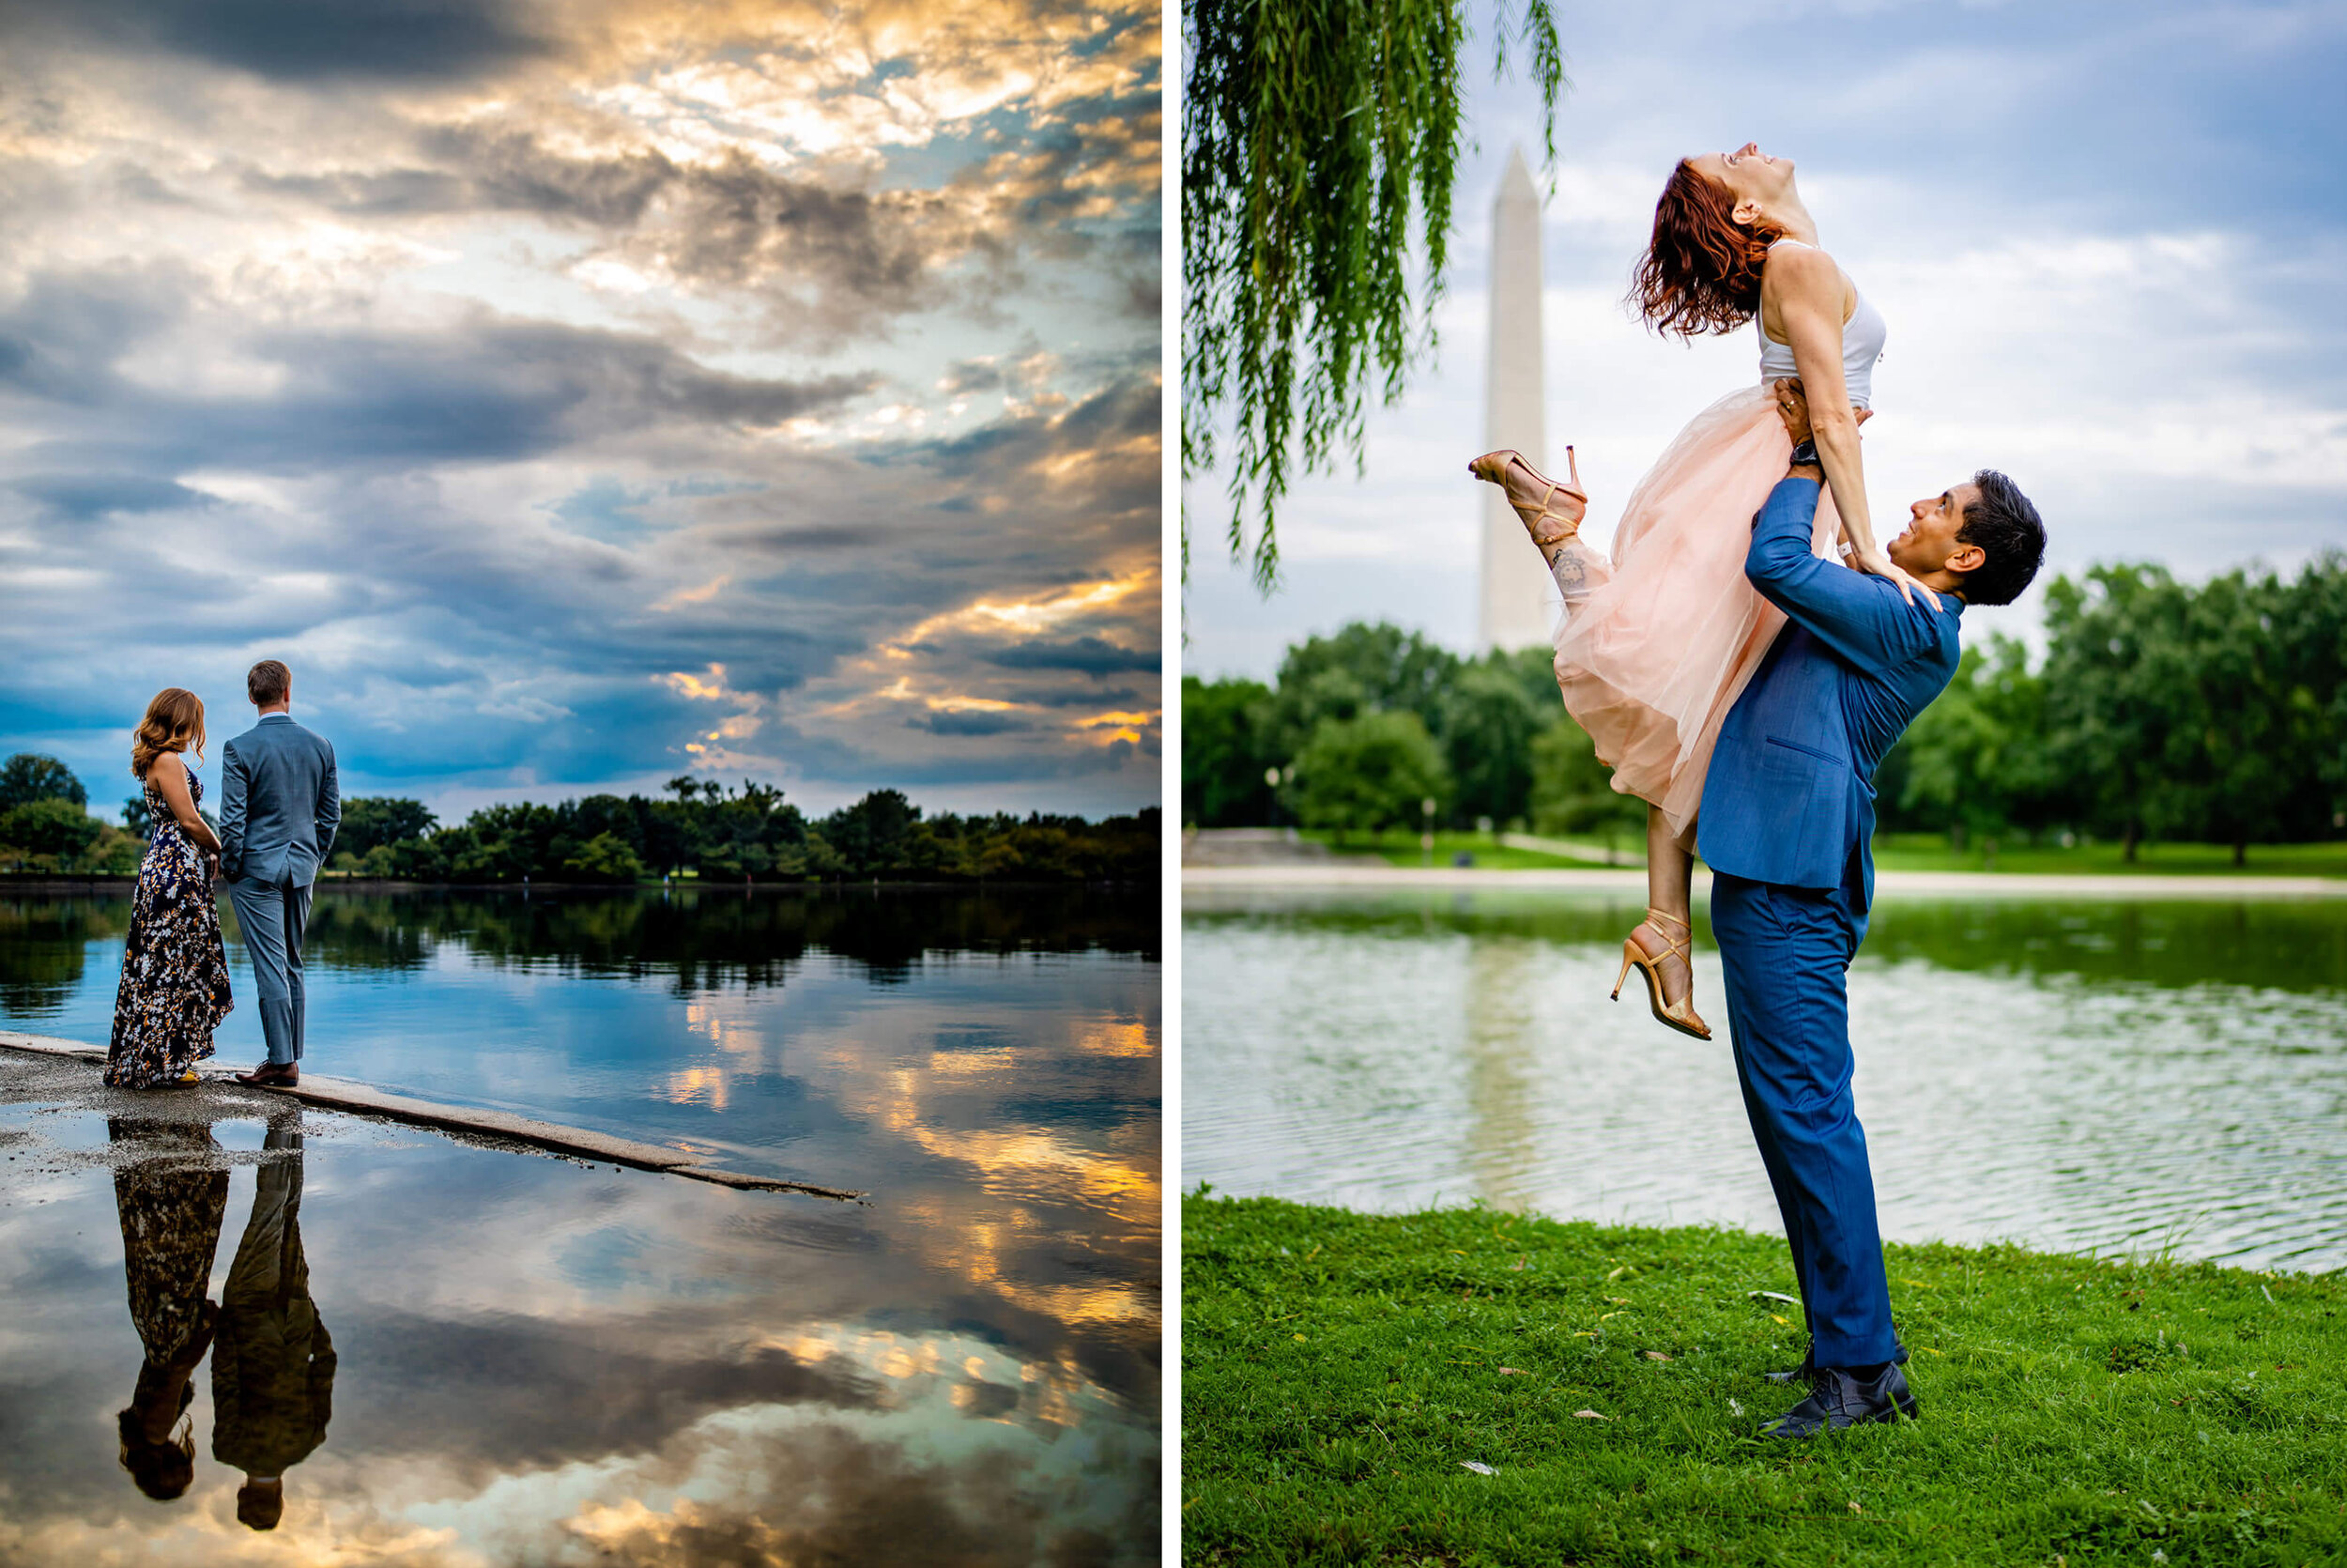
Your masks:
M1784 627L1744 580L1744 556L1753 512L1791 451L1767 387L1730 392L1631 491L1612 561L1584 547L1558 563L1565 709L1615 770L1612 786L1662 807L1690 847L1720 723ZM1833 559L1840 528L1831 491L1821 493L1812 549ZM1580 584L1565 582L1575 556Z

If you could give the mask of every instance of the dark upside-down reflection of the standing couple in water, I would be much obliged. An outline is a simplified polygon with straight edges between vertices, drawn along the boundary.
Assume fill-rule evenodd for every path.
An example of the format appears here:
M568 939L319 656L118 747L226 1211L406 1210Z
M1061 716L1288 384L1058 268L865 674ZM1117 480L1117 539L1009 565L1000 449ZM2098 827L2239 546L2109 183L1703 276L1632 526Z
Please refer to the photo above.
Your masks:
M108 1117L131 1324L146 1347L120 1422L122 1467L169 1502L195 1481L195 1373L211 1354L211 1458L244 1472L237 1519L275 1530L284 1476L326 1441L333 1340L300 1249L300 1127L270 1122L253 1209L221 1300L207 1296L228 1216L209 1122Z

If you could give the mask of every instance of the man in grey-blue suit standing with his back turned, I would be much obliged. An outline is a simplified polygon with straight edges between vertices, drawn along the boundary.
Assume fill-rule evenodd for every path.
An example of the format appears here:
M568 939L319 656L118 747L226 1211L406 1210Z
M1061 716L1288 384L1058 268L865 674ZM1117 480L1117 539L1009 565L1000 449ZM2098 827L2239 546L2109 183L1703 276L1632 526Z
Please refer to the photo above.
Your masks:
M300 937L310 922L310 883L333 850L343 798L333 746L293 723L293 674L261 660L244 676L261 721L221 746L221 876L244 930L261 993L261 1038L270 1059L237 1073L242 1084L300 1082Z

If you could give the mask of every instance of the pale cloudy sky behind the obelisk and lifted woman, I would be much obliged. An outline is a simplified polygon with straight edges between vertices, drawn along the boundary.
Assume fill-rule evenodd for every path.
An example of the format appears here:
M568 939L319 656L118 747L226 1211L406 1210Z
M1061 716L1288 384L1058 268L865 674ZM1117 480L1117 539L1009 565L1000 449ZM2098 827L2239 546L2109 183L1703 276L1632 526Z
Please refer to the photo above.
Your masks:
M2347 9L1561 12L1575 92L1544 223L1547 439L1580 446L1596 538L1687 415L1758 373L1751 329L1683 350L1622 310L1671 162L1758 138L1798 160L1821 239L1889 317L1866 427L1878 516L1990 465L2042 505L2054 570L2201 577L2347 542ZM1486 38L1474 82L1441 364L1371 418L1366 481L1298 488L1281 594L1258 601L1197 552L1188 671L1263 676L1352 617L1474 638L1490 197L1509 146L1540 146L1537 103L1521 77L1490 82ZM1213 530L1213 486L1190 505Z

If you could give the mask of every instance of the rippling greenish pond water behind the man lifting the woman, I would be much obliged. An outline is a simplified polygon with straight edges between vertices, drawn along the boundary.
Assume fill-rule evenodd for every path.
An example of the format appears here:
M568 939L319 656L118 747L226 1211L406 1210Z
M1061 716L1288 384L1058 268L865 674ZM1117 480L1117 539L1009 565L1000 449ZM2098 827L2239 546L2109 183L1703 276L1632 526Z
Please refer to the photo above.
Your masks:
M1718 953L1671 1033L1629 899L1202 890L1183 1181L1779 1230ZM1885 899L1849 972L1882 1232L2347 1265L2347 899Z

